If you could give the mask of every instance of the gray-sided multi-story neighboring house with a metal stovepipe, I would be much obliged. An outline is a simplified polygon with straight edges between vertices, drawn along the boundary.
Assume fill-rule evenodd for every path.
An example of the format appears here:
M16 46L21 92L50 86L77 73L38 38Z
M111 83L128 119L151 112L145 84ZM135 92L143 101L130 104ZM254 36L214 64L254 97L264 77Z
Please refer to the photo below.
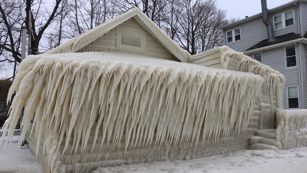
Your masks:
M284 108L307 108L306 0L291 1L273 9L266 9L266 1L262 0L262 13L220 29L223 30L224 45L286 77Z

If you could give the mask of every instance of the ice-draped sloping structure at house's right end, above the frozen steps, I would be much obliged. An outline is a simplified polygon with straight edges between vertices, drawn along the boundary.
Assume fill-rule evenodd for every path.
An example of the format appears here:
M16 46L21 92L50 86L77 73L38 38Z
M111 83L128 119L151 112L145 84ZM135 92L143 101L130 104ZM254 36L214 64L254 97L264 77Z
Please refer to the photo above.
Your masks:
M236 52L227 46L220 47L220 58L223 69L258 74L264 79L262 94L257 100L260 106L260 129L275 128L275 115L282 106L282 92L285 85L285 77L278 71L259 61Z

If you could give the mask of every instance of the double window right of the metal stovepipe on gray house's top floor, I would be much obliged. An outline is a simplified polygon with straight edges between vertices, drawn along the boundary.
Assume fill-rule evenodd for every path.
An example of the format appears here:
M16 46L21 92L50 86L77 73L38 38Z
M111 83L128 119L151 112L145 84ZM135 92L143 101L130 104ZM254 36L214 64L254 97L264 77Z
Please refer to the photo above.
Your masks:
M273 17L274 30L294 25L293 10Z

